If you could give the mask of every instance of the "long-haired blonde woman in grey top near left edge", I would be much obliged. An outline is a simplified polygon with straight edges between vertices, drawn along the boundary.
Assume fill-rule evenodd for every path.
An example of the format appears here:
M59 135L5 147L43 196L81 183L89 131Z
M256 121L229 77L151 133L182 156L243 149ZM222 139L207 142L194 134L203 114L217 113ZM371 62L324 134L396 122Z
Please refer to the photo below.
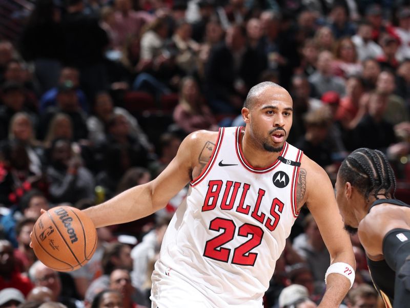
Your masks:
M30 170L35 175L41 175L44 164L44 149L34 139L34 128L30 115L17 112L10 120L9 140L17 140L24 144L30 160Z

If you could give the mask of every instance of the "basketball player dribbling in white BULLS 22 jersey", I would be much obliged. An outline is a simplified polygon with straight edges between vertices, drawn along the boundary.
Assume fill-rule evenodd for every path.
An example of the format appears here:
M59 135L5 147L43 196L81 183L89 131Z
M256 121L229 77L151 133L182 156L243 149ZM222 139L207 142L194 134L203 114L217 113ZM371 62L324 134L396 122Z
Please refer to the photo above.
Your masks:
M322 306L337 307L355 261L325 171L286 142L292 98L263 82L245 101L246 127L197 131L153 181L84 212L96 227L165 207L190 183L163 239L152 275L153 307L262 307L275 262L306 204L329 249Z

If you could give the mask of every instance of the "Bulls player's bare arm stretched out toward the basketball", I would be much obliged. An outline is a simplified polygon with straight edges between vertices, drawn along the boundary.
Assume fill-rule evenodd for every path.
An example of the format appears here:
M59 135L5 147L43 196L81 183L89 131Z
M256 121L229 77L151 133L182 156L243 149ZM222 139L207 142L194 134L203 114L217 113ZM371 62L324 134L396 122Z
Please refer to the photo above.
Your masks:
M156 179L87 208L84 213L98 228L146 217L165 207L178 191L200 173L206 158L209 160L217 134L203 130L191 133L182 141L175 158Z

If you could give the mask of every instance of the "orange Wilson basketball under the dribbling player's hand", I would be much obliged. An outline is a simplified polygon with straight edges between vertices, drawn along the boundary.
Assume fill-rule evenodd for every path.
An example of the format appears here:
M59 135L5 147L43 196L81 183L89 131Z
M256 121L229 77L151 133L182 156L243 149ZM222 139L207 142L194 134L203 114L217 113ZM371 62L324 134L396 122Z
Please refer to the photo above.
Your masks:
M31 238L37 258L59 272L75 271L87 264L97 246L93 222L71 206L56 206L43 213Z

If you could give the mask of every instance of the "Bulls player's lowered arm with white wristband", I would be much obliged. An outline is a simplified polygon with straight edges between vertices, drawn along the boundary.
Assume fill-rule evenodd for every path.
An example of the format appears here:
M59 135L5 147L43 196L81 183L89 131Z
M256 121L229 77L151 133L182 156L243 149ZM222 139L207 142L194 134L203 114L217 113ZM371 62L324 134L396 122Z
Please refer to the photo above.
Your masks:
M320 234L330 253L331 266L336 267L336 272L344 272L345 265L351 266L350 272L354 277L356 261L353 247L336 204L332 183L326 172L310 160L303 157L301 170L306 181L306 205L311 211L319 227ZM299 172L300 174L300 172ZM345 264L347 263L347 264ZM343 268L341 268L343 266ZM320 307L338 307L351 287L351 281L343 274L332 273L326 279L326 292ZM324 277L323 277L324 279Z

